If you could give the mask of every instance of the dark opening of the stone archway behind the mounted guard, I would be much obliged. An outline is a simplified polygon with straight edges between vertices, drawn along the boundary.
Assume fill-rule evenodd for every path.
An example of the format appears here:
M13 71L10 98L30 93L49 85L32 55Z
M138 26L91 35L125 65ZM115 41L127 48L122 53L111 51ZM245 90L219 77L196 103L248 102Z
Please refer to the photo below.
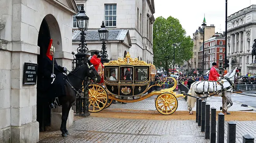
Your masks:
M42 59L46 57L48 44L50 42L50 31L48 24L43 19L38 34L37 45L40 47L40 55L37 56L38 62L38 76L37 83L40 83L43 78L42 70ZM38 86L39 84L37 84ZM39 131L45 131L47 126L51 123L51 109L46 99L40 91L37 90L37 101L36 101L36 121L39 122Z

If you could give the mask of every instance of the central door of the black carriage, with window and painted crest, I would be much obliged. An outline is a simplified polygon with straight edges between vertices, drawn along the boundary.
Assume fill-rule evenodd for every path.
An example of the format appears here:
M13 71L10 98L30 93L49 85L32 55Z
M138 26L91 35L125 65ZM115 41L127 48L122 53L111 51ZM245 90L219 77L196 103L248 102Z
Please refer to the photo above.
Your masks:
M133 96L133 66L120 66L119 67L119 95L120 96Z

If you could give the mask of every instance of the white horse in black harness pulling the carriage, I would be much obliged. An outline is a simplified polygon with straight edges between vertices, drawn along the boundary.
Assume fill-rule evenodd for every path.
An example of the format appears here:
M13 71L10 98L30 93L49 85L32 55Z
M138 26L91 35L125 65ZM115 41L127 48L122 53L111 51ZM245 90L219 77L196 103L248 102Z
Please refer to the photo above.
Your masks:
M237 73L237 74L236 74ZM210 96L221 96L222 100L222 111L224 113L230 114L228 112L228 108L233 105L231 100L231 95L234 89L234 78L236 77L239 79L240 76L239 71L237 68L228 72L221 80L218 81L200 81L194 82L191 84L190 93L194 97L200 97L203 100L207 100L207 97ZM187 97L187 105L189 109L189 114L192 113L192 108L195 107L196 98L194 97Z

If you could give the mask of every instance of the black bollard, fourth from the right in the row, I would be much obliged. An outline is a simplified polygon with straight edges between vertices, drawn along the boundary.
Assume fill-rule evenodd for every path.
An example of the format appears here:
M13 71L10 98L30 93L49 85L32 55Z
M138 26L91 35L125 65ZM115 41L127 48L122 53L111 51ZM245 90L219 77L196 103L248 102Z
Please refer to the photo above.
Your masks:
M216 108L211 107L210 143L216 143Z

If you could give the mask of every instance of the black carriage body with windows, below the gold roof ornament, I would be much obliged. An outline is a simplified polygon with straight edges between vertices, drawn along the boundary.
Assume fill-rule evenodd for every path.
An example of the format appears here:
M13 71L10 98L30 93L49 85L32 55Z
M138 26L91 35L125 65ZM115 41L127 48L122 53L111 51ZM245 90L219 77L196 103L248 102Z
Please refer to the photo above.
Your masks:
M144 94L150 83L150 66L104 66L104 83L107 92L121 97Z

